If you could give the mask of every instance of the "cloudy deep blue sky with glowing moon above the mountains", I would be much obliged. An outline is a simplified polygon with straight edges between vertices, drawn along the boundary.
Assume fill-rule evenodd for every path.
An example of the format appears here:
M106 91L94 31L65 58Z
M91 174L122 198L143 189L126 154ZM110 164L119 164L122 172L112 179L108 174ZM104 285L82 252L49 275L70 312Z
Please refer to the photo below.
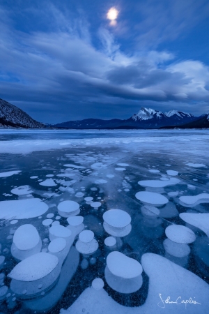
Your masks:
M208 0L1 0L0 98L40 122L209 111Z

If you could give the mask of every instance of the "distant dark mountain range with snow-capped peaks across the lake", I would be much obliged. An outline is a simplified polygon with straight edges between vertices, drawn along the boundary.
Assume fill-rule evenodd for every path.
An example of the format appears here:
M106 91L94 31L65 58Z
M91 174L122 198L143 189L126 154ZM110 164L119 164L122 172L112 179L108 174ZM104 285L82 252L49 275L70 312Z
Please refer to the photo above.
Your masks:
M111 128L160 128L163 126L178 126L198 119L192 114L171 110L163 113L151 108L141 107L137 114L129 119L84 119L77 121L67 121L61 124L55 124L56 128L76 128L76 129L111 129Z

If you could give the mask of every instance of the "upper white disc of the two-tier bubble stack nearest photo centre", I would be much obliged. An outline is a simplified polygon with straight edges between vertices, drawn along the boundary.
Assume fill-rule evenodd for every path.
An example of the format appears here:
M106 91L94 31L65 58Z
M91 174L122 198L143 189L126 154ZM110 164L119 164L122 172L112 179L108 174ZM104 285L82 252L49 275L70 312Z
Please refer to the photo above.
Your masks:
M109 211L105 211L103 219L108 225L117 228L126 227L132 220L130 215L121 209L109 209Z

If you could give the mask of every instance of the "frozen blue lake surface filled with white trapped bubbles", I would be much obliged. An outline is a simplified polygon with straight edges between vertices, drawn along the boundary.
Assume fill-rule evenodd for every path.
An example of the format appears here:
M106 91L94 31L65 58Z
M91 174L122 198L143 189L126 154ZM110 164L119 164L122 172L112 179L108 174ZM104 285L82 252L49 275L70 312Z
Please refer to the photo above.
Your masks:
M208 144L0 130L0 313L208 313Z

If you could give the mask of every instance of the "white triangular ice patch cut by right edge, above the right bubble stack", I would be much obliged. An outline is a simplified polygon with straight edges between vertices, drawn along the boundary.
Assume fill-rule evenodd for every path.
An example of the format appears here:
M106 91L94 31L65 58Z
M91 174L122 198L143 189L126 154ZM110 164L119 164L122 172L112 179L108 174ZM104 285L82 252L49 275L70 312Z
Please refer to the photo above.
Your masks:
M198 227L200 230L205 232L209 237L209 214L196 214L196 213L181 213L180 218L186 223Z

